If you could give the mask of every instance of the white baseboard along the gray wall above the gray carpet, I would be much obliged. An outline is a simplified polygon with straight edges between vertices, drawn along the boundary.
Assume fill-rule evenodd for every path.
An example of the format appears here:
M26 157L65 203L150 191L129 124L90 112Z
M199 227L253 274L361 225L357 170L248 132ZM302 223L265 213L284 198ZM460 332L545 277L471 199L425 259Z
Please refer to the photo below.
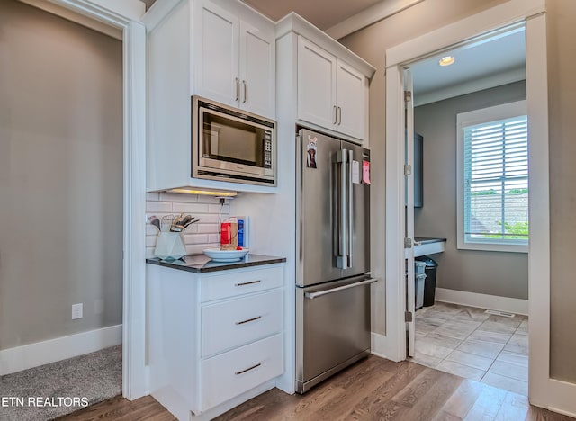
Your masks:
M0 351L0 375L21 372L122 343L122 325L57 337Z

